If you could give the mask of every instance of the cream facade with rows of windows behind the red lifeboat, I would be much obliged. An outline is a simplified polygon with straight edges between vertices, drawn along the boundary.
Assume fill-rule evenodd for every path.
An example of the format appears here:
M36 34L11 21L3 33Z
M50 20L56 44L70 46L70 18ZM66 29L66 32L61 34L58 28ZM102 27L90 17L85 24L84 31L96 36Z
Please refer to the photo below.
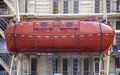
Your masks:
M106 19L116 32L113 45L120 50L120 0L0 0L0 4L0 16L9 23L14 17L21 21L82 20L86 16L97 16L99 21ZM13 60L11 75L99 75L99 72L101 75L120 75L119 53L117 56L104 55L101 70L99 54L36 54L20 57L20 62L17 57Z

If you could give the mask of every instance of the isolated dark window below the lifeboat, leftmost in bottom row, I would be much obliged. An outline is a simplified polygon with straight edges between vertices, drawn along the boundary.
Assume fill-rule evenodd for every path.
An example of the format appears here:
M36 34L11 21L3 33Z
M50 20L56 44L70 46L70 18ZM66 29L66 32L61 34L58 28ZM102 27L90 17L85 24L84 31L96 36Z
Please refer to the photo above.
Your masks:
M37 59L31 59L31 75L37 75Z

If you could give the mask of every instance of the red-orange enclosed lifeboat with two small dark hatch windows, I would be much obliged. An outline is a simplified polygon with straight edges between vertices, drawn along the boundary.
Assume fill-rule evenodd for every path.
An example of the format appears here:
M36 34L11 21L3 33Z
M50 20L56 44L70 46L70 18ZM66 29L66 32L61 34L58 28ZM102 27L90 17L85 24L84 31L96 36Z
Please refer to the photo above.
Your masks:
M114 30L96 21L20 22L5 30L11 54L107 53Z

